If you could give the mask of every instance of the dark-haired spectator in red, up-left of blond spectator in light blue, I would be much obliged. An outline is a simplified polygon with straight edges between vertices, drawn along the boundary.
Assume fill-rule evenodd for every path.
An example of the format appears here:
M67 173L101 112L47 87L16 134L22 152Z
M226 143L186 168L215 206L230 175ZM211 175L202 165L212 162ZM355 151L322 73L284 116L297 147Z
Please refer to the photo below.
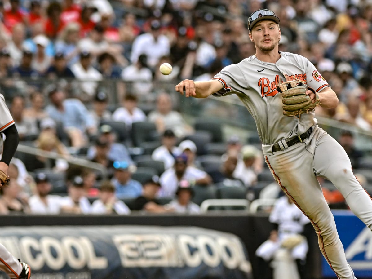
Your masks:
M62 7L57 1L53 1L47 8L48 19L45 23L45 35L54 40L58 33L63 29L64 24L61 20Z

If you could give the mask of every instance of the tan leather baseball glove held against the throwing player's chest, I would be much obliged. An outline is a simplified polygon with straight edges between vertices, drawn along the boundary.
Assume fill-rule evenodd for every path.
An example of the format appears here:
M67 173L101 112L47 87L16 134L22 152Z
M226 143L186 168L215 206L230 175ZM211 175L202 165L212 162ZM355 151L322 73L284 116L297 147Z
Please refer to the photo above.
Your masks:
M277 85L278 92L282 93L283 115L297 116L302 113L308 113L320 106L320 100L317 92L308 87L304 81L285 81ZM313 103L310 96L306 95L307 90L312 90L316 95Z

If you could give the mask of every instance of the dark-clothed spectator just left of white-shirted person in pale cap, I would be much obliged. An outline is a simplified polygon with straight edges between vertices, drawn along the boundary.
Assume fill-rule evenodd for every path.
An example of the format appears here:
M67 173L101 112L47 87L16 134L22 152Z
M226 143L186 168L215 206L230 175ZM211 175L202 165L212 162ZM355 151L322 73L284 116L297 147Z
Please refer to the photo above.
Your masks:
M224 186L243 187L244 182L234 177L234 171L238 163L238 153L229 151L227 154L222 155L222 166L219 170L210 171L214 183L223 183Z

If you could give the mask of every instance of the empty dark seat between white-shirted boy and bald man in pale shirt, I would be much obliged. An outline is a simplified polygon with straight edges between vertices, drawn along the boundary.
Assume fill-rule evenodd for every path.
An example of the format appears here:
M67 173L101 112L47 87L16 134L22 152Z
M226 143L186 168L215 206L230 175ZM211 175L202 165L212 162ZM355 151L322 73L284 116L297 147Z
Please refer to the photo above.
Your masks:
M149 121L134 122L132 124L132 143L140 147L142 142L157 140L159 135L155 123Z

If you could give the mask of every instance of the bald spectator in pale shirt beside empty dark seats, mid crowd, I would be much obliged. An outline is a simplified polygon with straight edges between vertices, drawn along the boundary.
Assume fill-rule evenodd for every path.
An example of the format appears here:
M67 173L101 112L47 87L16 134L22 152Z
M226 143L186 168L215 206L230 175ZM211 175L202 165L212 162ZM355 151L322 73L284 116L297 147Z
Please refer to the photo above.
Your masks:
M156 100L156 110L148 115L148 120L154 122L159 133L166 129L174 131L177 137L183 137L193 132L190 125L182 118L182 115L173 110L172 100L167 93L160 93Z

